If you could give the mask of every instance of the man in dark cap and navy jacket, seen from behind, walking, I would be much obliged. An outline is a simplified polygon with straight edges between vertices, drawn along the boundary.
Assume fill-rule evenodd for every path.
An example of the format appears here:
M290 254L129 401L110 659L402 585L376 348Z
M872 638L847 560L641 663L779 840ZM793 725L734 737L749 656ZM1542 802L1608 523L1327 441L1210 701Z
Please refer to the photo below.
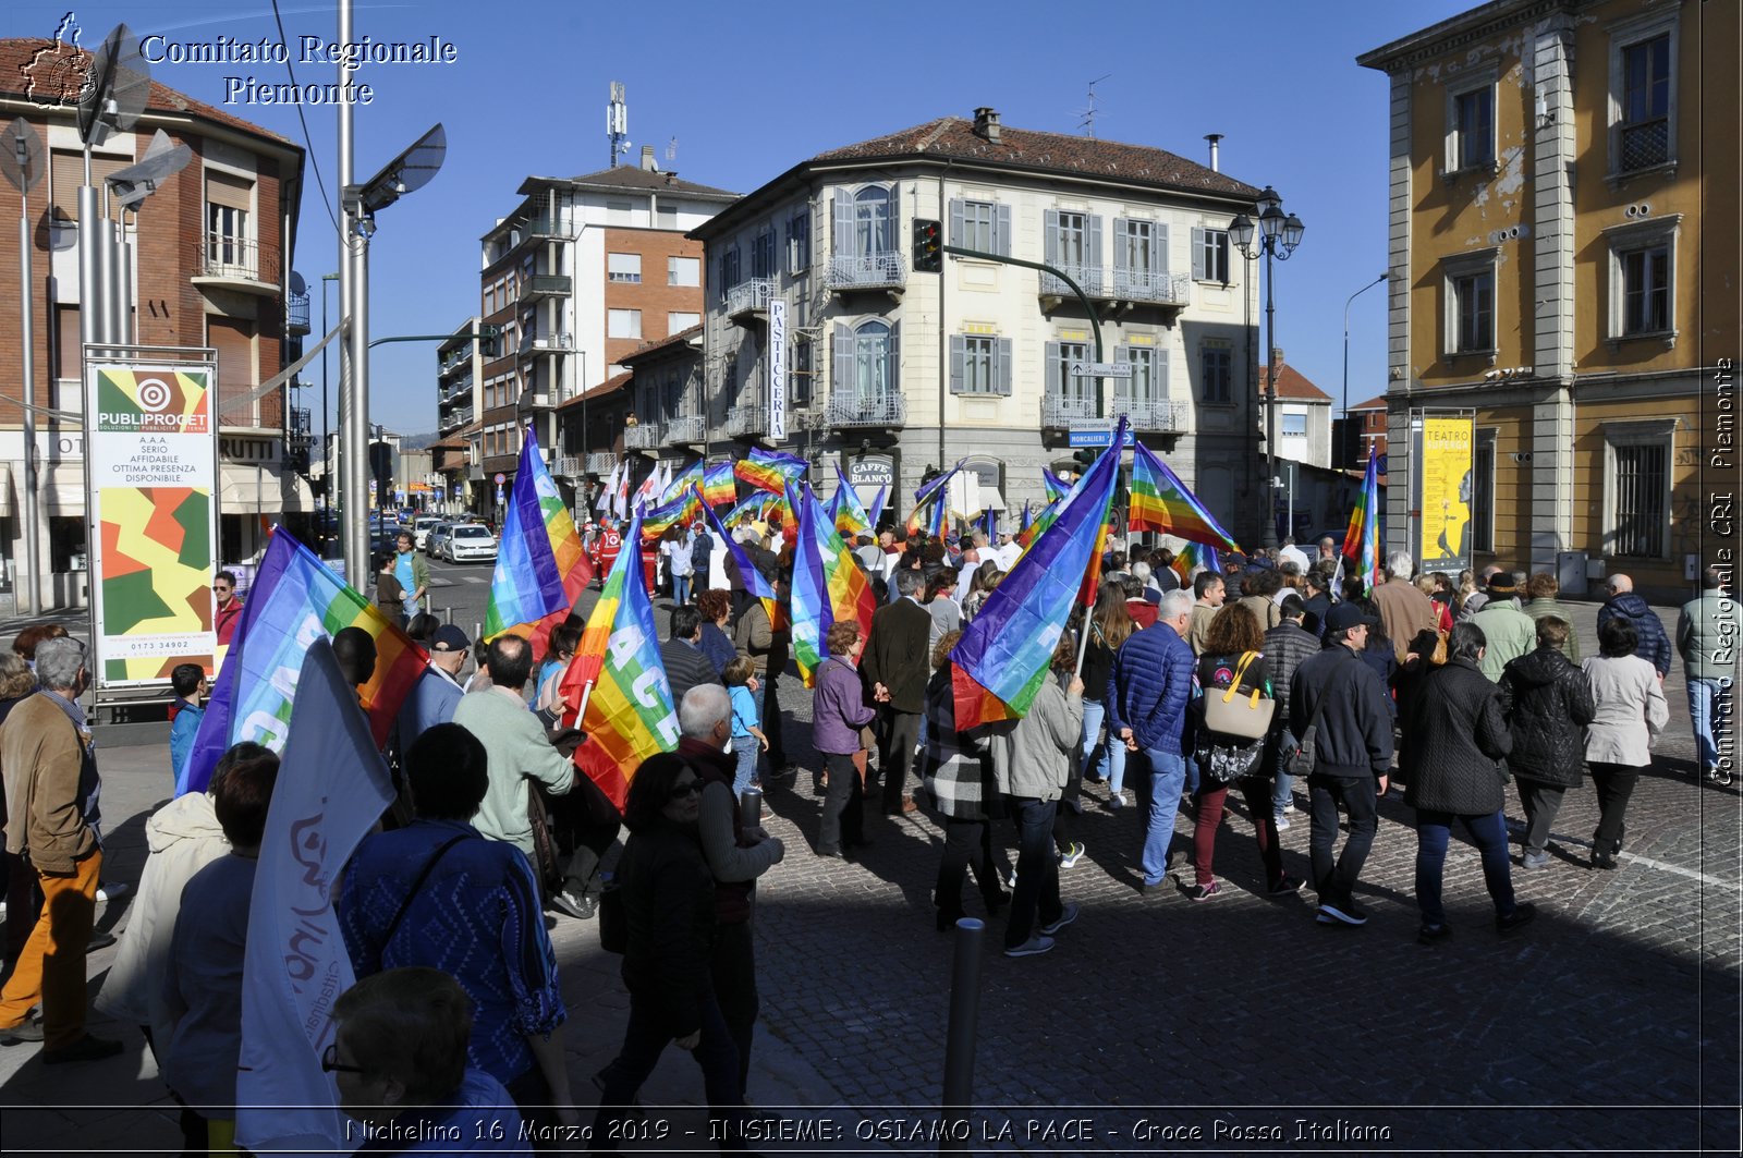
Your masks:
M1309 856L1321 924L1365 924L1354 900L1356 877L1373 848L1375 802L1386 795L1393 764L1393 719L1386 685L1367 663L1368 628L1375 616L1339 603L1325 617L1326 647L1304 659L1290 682L1290 727L1302 738L1312 725L1312 773L1307 776L1312 837ZM1297 720L1300 724L1297 724ZM1349 841L1332 862L1339 807L1349 814Z

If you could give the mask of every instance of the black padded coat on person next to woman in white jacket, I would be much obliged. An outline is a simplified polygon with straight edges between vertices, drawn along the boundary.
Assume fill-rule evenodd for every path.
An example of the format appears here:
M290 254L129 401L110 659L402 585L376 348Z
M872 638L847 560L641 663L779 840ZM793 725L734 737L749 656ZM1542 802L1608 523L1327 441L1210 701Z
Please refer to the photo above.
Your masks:
M1586 767L1584 725L1597 705L1591 684L1555 647L1539 647L1501 673L1501 713L1513 732L1515 776L1577 788Z

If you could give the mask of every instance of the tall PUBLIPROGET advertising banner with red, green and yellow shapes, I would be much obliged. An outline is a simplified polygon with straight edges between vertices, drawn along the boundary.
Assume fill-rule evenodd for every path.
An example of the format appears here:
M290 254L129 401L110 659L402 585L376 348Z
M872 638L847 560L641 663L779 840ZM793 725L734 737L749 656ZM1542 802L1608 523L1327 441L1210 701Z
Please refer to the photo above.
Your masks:
M211 364L89 363L85 471L98 687L213 666L218 438Z

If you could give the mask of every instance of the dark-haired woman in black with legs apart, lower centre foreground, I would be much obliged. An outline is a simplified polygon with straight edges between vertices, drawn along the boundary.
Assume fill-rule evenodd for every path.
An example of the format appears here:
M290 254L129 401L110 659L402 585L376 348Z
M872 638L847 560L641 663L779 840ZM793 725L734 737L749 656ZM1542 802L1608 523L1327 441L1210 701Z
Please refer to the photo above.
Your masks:
M594 1078L600 1086L594 1151L617 1149L629 1106L669 1043L692 1053L702 1067L722 1149L743 1148L730 1141L739 1134L744 1106L739 1052L720 1013L709 971L715 875L695 827L701 790L695 769L673 753L645 760L629 781L624 804L629 841L617 862L629 926L622 970L629 1027L617 1059Z

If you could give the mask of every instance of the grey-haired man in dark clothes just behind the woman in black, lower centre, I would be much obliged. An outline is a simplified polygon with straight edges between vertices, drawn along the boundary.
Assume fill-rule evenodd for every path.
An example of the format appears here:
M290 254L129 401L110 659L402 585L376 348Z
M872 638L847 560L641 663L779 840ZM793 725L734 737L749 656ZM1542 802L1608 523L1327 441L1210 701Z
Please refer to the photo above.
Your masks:
M725 753L732 738L732 699L720 684L697 684L678 701L678 755L702 781L697 830L708 870L715 874L715 996L739 1048L739 1095L751 1064L756 1031L756 954L751 947L751 893L756 877L781 862L786 848L749 823L732 792L737 762Z

